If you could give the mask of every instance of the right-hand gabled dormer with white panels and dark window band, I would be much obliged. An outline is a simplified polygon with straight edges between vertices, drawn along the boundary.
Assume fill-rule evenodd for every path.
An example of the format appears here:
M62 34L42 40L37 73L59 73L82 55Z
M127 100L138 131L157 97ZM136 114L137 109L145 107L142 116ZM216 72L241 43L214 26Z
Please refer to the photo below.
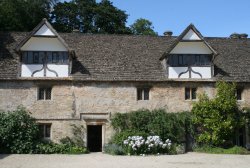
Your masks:
M209 79L213 76L213 58L217 52L190 24L163 55L168 78Z

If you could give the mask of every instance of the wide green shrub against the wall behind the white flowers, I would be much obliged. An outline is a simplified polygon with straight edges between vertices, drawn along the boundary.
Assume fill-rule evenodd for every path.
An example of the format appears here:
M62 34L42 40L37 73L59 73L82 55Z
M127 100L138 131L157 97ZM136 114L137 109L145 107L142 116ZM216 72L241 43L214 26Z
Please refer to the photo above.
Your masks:
M179 143L186 134L193 133L189 112L167 113L165 110L138 110L130 113L116 113L111 124L117 130L114 142L132 135L159 135L162 139L171 139Z

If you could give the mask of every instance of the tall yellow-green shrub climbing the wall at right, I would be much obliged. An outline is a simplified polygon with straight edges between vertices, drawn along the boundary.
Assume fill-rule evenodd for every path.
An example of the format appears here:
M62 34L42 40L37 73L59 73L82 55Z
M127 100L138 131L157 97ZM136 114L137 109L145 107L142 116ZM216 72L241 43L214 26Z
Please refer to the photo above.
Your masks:
M236 85L216 83L214 99L201 95L194 104L193 121L198 128L197 141L214 146L232 146L235 130L243 124L235 97Z

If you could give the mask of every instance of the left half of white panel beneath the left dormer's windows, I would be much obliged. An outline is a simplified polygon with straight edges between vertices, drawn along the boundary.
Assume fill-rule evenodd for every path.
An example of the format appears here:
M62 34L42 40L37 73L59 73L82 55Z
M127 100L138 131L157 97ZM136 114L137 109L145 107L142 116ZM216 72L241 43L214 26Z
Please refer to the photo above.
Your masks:
M36 70L42 69L43 65L39 64L22 64L21 77L31 77L32 73ZM34 74L34 77L43 77L44 70Z

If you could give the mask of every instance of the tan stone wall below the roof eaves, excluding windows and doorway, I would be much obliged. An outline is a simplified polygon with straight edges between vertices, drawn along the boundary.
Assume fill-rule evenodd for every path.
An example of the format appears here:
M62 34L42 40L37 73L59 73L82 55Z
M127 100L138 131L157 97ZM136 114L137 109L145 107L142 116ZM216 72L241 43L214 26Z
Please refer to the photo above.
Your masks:
M39 86L52 86L51 100L37 100ZM137 100L137 87L149 86L149 100ZM197 87L209 97L216 93L214 83L205 82L0 82L0 110L14 110L26 107L39 122L52 123L52 140L58 142L65 136L72 136L71 124L103 125L103 143L108 142L113 131L108 118L95 119L94 114L113 115L141 108L164 108L168 112L190 111L194 101L185 100L185 87ZM250 85L244 86L242 106L250 106ZM84 120L81 114L88 114L92 120ZM100 122L102 121L102 122ZM104 121L104 122L103 122Z

